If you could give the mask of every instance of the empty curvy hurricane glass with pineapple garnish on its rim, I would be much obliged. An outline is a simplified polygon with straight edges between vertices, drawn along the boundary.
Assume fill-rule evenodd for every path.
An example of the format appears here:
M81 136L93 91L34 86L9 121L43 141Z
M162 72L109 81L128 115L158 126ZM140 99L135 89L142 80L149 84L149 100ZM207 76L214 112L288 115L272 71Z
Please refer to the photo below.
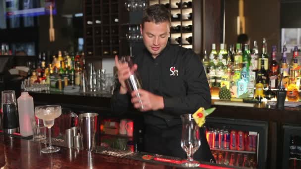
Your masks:
M182 138L181 147L187 154L187 162L183 163L185 167L198 167L199 162L194 161L193 154L201 146L199 127L192 117L192 114L181 115L182 120Z

